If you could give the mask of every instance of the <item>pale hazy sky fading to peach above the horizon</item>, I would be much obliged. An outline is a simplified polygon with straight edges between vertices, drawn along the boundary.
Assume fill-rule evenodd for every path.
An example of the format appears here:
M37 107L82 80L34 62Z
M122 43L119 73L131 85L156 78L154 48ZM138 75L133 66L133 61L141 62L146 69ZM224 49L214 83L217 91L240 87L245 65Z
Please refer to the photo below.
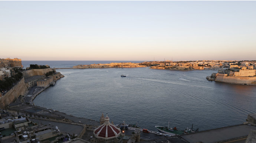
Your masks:
M256 1L0 1L0 58L256 60Z

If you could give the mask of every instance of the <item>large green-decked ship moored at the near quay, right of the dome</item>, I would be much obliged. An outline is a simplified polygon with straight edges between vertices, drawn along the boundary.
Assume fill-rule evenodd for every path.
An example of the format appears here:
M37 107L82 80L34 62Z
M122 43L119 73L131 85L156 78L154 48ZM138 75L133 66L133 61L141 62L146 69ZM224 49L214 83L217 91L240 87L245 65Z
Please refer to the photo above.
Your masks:
M178 130L176 127L174 128L169 128L168 127L164 127L164 126L155 126L155 128L157 128L157 130L161 133L166 133L168 135L182 135L182 134L186 134L186 133L193 133L193 132L198 132L199 129L193 130L193 124L192 124L192 128L186 128L185 130Z

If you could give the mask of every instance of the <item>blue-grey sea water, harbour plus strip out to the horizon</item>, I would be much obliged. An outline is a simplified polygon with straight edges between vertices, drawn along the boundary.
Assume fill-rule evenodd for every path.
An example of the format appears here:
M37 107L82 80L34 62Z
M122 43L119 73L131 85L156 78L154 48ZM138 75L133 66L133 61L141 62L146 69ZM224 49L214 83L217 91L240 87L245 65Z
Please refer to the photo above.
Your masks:
M72 67L78 64L144 61L22 61ZM256 112L256 86L207 81L213 70L61 69L65 77L39 94L34 104L99 121L102 112L114 124L156 125L207 130L246 122ZM127 77L121 77L124 74Z

